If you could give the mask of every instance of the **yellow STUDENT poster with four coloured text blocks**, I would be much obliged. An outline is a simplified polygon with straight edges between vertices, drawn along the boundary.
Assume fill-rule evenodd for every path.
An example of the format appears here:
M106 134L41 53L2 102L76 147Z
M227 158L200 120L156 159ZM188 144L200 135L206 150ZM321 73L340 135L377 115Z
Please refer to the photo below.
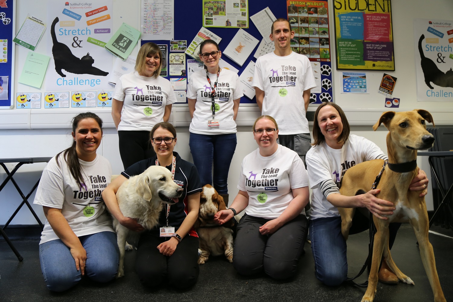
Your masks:
M390 0L336 0L337 69L395 70Z

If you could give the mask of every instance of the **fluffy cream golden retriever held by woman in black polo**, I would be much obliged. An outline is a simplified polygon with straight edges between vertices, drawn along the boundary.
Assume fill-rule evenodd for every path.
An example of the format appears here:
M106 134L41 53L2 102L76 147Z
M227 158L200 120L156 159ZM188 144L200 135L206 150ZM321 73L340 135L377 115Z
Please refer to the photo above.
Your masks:
M167 168L151 166L145 172L123 182L116 192L116 199L125 217L135 218L145 230L149 230L159 223L159 214L164 203L172 205L178 202L182 193L183 188L173 182ZM137 235L137 233L121 225L115 217L113 217L113 226L120 249L120 264L116 278L120 278L124 276L126 239L128 235ZM128 248L132 246L128 245Z

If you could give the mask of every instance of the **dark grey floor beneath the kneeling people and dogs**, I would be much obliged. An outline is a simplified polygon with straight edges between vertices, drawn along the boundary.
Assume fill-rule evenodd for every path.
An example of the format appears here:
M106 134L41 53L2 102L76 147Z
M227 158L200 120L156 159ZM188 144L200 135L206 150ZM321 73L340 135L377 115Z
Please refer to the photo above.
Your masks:
M452 230L433 226L431 230L453 237ZM429 234L434 247L440 283L447 301L453 301L453 238ZM76 287L53 293L44 285L38 259L38 238L14 241L24 261L19 262L9 246L0 242L0 302L38 301L206 301L206 302L277 302L277 301L360 301L364 288L347 284L328 288L315 278L310 245L299 262L298 274L287 281L275 281L264 275L242 277L222 257L209 259L200 266L197 284L187 291L176 291L171 285L150 291L144 288L134 272L135 252L126 253L125 277L107 284L83 279ZM357 273L367 254L367 232L350 236L348 240L349 275ZM433 293L421 263L419 248L410 225L403 224L398 232L392 256L403 273L415 286L399 283L379 283L375 301L434 301ZM365 273L366 274L366 273ZM359 281L366 280L362 276Z

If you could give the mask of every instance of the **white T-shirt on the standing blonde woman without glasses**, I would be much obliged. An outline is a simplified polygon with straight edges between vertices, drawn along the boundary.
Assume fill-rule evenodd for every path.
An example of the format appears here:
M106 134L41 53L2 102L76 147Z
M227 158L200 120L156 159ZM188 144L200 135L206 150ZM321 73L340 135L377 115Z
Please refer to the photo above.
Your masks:
M165 106L176 102L169 80L140 76L136 71L120 77L113 98L123 102L118 130L127 131L151 131L164 121Z

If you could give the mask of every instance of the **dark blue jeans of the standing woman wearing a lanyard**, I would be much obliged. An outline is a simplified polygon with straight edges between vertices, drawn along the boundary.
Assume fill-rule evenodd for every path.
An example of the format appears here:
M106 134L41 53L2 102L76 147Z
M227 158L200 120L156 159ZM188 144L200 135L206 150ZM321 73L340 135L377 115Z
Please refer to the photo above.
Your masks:
M210 184L218 193L228 194L228 171L236 143L236 133L217 135L190 133L190 153L200 174L202 186Z

